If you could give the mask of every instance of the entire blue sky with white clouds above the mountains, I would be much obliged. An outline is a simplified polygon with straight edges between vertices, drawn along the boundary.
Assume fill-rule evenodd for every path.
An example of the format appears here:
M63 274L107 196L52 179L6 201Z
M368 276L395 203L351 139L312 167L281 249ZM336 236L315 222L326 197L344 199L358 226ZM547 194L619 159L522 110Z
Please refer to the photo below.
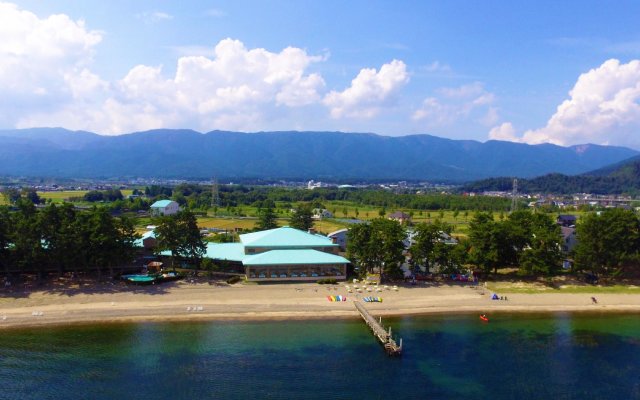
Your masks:
M0 128L640 149L640 2L0 3Z

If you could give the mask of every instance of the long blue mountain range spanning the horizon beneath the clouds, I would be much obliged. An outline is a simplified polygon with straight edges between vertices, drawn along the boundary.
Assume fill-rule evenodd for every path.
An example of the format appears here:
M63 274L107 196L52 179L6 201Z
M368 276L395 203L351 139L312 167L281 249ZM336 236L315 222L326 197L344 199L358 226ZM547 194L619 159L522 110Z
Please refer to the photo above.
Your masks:
M61 128L0 131L0 175L468 182L579 174L639 155L623 147L388 137L343 132L153 130L120 136Z

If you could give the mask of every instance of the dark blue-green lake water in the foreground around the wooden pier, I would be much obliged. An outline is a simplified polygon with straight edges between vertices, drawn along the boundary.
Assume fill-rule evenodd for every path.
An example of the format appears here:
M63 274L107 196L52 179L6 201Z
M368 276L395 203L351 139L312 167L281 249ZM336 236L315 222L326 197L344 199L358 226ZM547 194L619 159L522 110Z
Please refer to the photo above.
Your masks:
M2 399L640 399L640 315L208 322L0 331Z

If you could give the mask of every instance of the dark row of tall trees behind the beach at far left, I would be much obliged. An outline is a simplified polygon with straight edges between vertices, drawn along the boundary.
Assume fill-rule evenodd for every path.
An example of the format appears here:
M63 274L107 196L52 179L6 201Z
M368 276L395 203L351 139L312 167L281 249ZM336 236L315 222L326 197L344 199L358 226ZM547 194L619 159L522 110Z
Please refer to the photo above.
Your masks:
M0 268L6 274L95 271L132 261L137 239L133 221L106 208L76 210L50 204L37 210L21 198L16 211L0 207Z

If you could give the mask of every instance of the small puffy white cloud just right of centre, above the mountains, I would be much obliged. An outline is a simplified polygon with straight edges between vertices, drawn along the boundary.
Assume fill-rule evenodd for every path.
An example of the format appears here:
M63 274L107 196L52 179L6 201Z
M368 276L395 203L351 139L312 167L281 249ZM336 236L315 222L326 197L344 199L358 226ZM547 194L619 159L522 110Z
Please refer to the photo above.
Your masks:
M392 104L394 96L409 82L406 65L393 60L380 71L364 68L342 92L332 90L324 97L333 118L372 118Z

